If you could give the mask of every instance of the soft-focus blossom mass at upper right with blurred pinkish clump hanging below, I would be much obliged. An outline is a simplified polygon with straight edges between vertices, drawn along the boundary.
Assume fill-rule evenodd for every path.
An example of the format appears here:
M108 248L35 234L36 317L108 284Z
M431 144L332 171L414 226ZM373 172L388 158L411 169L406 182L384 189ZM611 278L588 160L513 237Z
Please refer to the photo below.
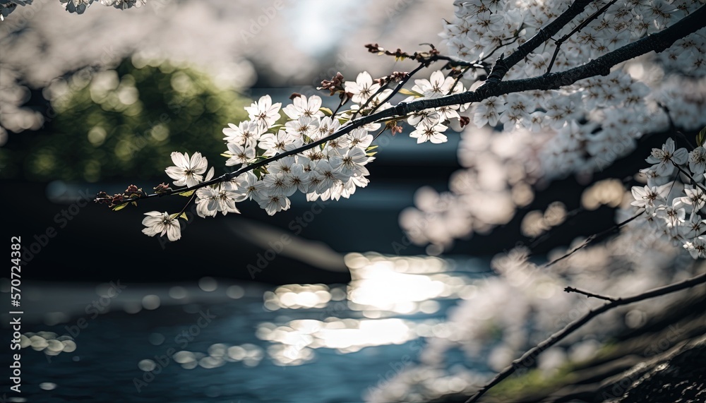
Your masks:
M570 33L607 3L592 2L554 39ZM616 1L566 37L551 71L581 66L658 32L703 3ZM570 2L467 0L454 4L455 16L447 20L441 37L451 55L481 61L515 51L566 11ZM544 42L510 68L505 78L546 73L556 46L555 41ZM532 200L531 186L539 181L570 174L590 181L593 172L633 152L643 135L669 128L663 107L679 128L702 128L706 125L702 113L706 108L705 57L705 30L699 30L665 52L618 64L607 76L586 78L558 90L513 93L472 104L466 113L475 127L462 133L459 152L465 169L452 176L449 192L424 193L424 200L446 200L441 207L417 200L416 207L402 213L402 227L416 243L448 247L454 239L508 222L517 207ZM494 133L480 129L489 126ZM474 196L479 194L491 195L496 203L490 203L493 207L481 203Z

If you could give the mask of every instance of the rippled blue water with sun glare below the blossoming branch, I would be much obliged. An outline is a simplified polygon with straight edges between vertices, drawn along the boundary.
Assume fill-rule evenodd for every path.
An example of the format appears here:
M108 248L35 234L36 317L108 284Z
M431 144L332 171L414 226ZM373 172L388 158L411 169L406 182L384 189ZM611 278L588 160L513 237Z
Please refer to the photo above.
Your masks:
M361 402L444 332L481 267L357 253L346 263L352 282L340 286L205 278L39 293L43 323L23 327L23 393L8 402Z

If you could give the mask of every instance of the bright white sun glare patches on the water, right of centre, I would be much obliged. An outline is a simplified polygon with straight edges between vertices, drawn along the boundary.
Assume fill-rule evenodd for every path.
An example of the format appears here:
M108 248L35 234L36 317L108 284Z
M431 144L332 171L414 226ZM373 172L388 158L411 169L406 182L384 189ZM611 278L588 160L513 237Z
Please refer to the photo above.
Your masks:
M450 263L439 258L349 253L345 262L352 276L345 294L323 284L289 284L265 293L270 311L304 308L318 316L258 325L256 336L272 343L267 351L277 365L311 361L314 349L346 354L428 337L439 320L392 317L431 315L441 309L436 299L469 298L475 291L471 279L447 273ZM362 318L335 315L344 312Z

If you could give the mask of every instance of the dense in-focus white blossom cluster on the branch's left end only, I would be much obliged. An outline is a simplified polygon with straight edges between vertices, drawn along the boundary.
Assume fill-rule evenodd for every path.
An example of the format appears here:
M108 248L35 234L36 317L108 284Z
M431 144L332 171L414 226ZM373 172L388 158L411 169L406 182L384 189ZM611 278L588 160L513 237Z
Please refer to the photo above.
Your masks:
M358 84L357 95L364 93L366 79L362 78ZM366 102L368 97L361 96L358 101ZM246 170L229 181L196 189L197 214L214 217L218 212L222 215L239 213L236 203L253 200L269 215L274 215L289 208L289 197L297 191L304 193L309 201L319 198L339 200L349 198L356 188L367 186L369 172L365 165L374 160L373 153L369 152L373 140L369 131L377 130L380 124L355 128L308 150L293 152L331 136L346 121L332 116L321 105L321 97L297 95L292 104L282 108L281 103L273 103L271 97L265 95L246 107L250 120L229 124L223 129L227 146L223 154L227 157L226 167L246 169L258 161L277 159ZM284 124L277 123L282 118L281 112L286 116ZM291 152L291 155L280 156L285 152ZM191 157L186 153L172 152L172 162L174 165L167 167L165 172L174 179L174 186L191 188L213 179L214 168L208 169L208 160L199 152ZM160 219L154 219L157 214ZM143 220L147 227L144 232L150 236L164 234L164 229L170 228L165 226L179 218L179 214L166 212L148 212L147 215ZM169 239L173 240L172 236Z

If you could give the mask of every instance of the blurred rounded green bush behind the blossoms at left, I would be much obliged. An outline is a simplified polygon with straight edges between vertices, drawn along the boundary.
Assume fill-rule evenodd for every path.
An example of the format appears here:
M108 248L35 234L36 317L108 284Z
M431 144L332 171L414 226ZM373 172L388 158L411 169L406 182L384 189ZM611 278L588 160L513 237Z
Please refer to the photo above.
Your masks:
M44 131L18 133L0 149L1 176L167 181L172 151L199 151L218 172L227 150L222 129L248 119L243 107L251 102L192 68L167 61L137 68L129 59L115 70L70 78L60 92L52 95L56 116Z

